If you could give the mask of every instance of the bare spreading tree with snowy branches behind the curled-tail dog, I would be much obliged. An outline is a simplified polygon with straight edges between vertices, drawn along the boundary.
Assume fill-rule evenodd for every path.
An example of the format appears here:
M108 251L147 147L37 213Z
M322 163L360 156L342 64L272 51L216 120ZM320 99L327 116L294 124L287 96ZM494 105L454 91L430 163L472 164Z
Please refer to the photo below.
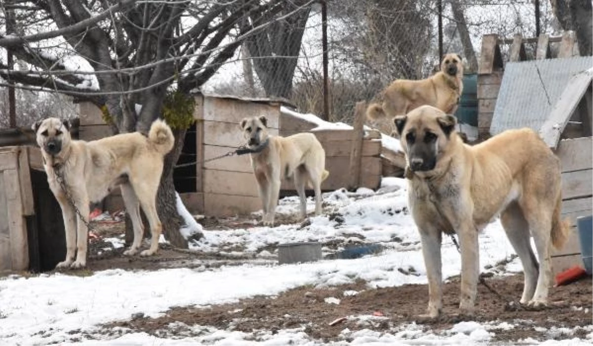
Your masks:
M24 33L0 32L0 50L10 49L30 69L12 71L0 61L0 77L11 81L0 86L55 91L91 101L105 111L114 132L146 132L162 114L171 86L190 102L190 91L212 77L246 37L278 20L286 5L282 0L2 3L14 9ZM294 8L281 19L300 12ZM0 24L5 20L0 18ZM89 65L90 71L73 68L73 58ZM165 157L157 207L165 237L173 245L187 247L178 232L181 218L173 168L192 117L187 112L173 114L167 121L174 128L176 145Z

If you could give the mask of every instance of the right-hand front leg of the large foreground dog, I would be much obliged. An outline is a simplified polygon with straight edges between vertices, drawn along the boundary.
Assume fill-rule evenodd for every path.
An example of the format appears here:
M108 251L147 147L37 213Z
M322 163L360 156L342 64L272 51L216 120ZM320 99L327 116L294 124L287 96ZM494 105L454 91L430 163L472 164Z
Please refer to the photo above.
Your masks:
M471 220L471 214L464 220ZM480 274L478 233L471 221L463 222L461 227L456 229L461 247L461 301L459 308L463 313L471 314L474 312Z

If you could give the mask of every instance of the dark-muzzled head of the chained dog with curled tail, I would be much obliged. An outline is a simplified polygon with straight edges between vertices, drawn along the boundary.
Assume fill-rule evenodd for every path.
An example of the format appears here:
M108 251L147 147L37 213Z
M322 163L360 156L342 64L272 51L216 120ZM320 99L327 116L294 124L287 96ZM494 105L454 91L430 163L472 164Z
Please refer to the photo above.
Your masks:
M70 122L58 118L47 118L34 123L37 144L50 155L58 155L71 141Z

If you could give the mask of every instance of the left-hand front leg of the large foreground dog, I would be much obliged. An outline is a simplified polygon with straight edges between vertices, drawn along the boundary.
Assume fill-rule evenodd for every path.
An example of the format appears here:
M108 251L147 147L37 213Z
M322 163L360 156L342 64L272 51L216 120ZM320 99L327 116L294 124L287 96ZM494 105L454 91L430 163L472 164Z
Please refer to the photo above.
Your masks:
M422 256L428 276L428 317L436 318L442 310L441 232L426 227L419 229Z

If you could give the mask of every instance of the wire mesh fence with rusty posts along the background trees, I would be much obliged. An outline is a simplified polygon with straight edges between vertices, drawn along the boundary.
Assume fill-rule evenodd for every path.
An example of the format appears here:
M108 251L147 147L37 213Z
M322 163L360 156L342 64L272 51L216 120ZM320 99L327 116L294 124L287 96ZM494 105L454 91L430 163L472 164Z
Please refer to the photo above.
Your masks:
M476 69L484 34L535 37L536 23L541 33L561 31L549 1L329 0L326 80L320 4L294 11L302 3L286 1L282 19L248 36L201 89L234 96L282 97L301 112L323 115L327 83L329 120L351 122L356 101L371 100L396 78L426 78L435 71L439 2L442 52L460 53L466 71ZM0 15L0 22L2 19ZM533 55L535 45L528 43L526 50ZM17 125L48 112L69 118L74 110L71 99L22 90L17 93ZM27 101L27 97L37 101ZM0 103L2 128L8 124L6 88L0 88Z

